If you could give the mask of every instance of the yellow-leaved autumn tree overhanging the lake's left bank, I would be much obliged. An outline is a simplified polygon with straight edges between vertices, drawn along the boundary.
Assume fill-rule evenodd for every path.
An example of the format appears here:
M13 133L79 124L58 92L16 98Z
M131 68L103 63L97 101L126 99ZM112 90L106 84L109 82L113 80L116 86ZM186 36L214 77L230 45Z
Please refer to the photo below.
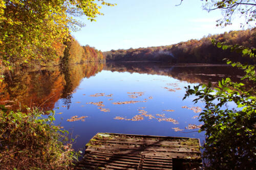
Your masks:
M103 15L105 0L0 0L0 61L47 61L56 57L56 45L69 41L71 30Z

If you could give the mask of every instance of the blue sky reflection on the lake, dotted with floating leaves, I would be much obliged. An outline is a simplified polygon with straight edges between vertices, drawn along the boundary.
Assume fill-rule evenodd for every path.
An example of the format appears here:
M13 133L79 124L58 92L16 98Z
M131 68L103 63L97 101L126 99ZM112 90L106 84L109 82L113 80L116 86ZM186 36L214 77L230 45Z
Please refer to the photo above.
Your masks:
M174 84L178 87L173 87ZM73 137L79 135L74 145L75 149L82 148L96 133L124 133L124 134L140 134L140 135L159 135L159 136L180 136L180 137L196 137L201 141L204 139L203 133L191 132L195 130L186 130L188 124L200 125L197 118L199 115L193 110L182 108L183 106L193 107L191 102L193 98L182 101L185 94L184 87L189 83L181 82L177 79L159 76L147 75L130 72L117 72L103 70L96 76L82 79L80 85L74 90L71 99L71 105L65 106L63 100L59 100L56 105L56 112L62 114L56 115L56 123L61 124L65 129L73 132ZM168 88L180 88L175 91L168 91ZM131 99L127 92L143 92L143 95L136 99ZM90 96L96 93L104 93L110 96ZM86 95L84 95L86 94ZM152 99L150 98L152 96ZM149 99L150 98L150 99ZM113 100L109 100L113 99ZM145 100L146 99L146 100ZM132 104L114 105L114 102L125 101L140 101ZM142 102L141 102L142 101ZM145 102L143 102L145 101ZM102 102L105 105L102 108L109 109L110 112L102 112L98 106L86 104L90 102ZM202 103L196 106L203 107ZM57 107L59 109L57 109ZM144 118L138 121L129 121L125 119L132 119L139 113L141 108L146 111L146 114L151 114L156 118ZM163 111L163 110L174 110ZM158 115L163 115L165 118L172 118L177 120L178 124L162 120L159 122L158 118L163 118ZM67 122L72 116L77 115L88 116L85 121ZM115 119L115 117L123 117L125 119ZM183 129L183 131L176 132L175 129ZM187 133L190 132L190 133Z

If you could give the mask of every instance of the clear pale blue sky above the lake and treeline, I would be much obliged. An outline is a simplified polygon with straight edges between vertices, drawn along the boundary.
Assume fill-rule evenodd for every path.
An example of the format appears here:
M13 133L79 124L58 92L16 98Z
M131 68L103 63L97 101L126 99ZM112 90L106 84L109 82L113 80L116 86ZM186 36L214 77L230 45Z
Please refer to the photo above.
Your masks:
M200 39L208 34L241 30L240 22L217 28L220 11L207 12L202 1L185 0L106 0L115 7L103 7L96 22L82 19L86 27L72 35L81 45L98 50L128 49L170 45L189 39Z

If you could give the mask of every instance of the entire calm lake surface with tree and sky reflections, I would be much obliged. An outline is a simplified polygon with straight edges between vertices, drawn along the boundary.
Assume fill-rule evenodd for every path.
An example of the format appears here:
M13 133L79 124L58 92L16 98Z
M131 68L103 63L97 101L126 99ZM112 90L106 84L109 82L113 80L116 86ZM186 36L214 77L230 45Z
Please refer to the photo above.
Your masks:
M75 149L83 148L97 132L194 137L203 142L204 133L189 128L200 126L197 116L203 103L194 105L193 97L182 101L184 87L216 84L225 77L239 80L241 74L228 66L160 63L15 69L0 84L0 104L54 109L55 124L77 136ZM86 117L70 122L72 116Z

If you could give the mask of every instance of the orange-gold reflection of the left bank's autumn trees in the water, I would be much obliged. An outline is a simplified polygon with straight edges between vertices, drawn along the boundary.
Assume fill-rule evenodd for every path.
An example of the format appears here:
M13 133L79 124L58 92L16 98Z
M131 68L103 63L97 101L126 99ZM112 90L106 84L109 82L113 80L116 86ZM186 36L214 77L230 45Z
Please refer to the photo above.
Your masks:
M48 67L40 69L14 68L0 83L0 104L18 108L42 107L52 110L59 99L70 107L72 93L83 78L96 75L103 69L103 63L83 63L69 67Z

